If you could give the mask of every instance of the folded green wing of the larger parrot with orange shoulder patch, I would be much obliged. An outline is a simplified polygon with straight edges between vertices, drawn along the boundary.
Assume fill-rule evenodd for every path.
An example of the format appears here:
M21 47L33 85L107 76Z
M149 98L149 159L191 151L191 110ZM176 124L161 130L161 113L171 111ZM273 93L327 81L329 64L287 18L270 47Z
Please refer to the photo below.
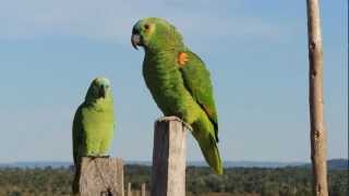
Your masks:
M200 57L189 50L184 52L188 54L188 61L184 65L180 66L184 86L213 123L215 137L218 142L218 120L209 72Z

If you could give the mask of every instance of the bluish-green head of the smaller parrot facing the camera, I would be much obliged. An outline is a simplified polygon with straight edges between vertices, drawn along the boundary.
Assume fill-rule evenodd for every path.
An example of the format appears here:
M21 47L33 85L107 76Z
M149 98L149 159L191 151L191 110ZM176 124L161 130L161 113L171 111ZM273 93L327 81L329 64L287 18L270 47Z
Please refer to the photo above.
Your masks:
M110 82L106 77L96 77L89 85L86 100L96 101L98 99L111 100L112 98Z

